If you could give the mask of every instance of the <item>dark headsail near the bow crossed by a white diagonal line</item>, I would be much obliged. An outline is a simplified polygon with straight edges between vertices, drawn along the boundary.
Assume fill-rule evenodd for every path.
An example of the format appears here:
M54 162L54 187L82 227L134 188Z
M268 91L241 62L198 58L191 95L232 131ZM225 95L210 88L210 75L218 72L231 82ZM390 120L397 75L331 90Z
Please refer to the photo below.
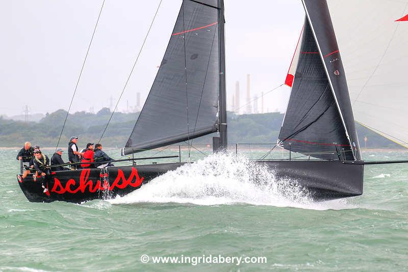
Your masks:
M326 1L302 0L299 59L279 142L320 159L361 160L346 77ZM337 146L336 146L337 145Z

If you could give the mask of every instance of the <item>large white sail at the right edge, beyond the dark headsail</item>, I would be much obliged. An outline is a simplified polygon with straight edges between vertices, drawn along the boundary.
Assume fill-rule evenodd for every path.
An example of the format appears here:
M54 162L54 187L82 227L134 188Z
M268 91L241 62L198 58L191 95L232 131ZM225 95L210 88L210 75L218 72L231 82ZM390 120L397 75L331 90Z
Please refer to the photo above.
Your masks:
M354 118L408 147L408 0L328 0Z

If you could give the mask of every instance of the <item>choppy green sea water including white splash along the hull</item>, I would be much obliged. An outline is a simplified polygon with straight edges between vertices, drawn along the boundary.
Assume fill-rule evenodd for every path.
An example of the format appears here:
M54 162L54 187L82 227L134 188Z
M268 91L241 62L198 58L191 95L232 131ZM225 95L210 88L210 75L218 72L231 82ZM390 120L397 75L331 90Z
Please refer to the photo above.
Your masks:
M15 178L16 153L0 150L2 271L408 270L406 164L367 165L362 196L313 203L298 191L274 194L245 182L245 175L236 178L235 171L250 167L246 162L208 159L120 199L78 205L28 202ZM386 160L407 154L363 156ZM147 263L142 255L149 256ZM203 255L267 262L152 261Z

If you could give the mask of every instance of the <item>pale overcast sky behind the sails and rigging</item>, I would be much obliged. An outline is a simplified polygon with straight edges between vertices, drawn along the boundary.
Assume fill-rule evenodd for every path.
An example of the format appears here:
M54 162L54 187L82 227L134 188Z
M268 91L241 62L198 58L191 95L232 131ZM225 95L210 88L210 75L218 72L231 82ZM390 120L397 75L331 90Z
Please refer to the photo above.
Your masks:
M0 114L67 110L101 0L0 0ZM116 103L140 50L158 0L106 0L71 112ZM130 83L119 103L141 103L151 87L171 35L181 0L163 0ZM227 103L246 74L252 95L282 84L304 20L300 0L225 0ZM265 96L264 110L284 111L289 87ZM228 107L229 108L229 107ZM259 104L259 109L261 105Z

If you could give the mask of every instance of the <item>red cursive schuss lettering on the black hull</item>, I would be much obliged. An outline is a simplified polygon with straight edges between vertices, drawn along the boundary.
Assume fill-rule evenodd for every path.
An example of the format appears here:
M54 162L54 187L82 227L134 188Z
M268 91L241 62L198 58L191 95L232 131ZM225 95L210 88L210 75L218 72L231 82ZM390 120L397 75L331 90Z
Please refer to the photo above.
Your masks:
M129 176L129 178L125 178L124 173L121 169L118 169L118 175L115 179L115 181L113 182L112 186L109 186L109 182L107 180L104 181L104 185L101 186L101 182L100 180L98 180L95 184L94 187L92 187L92 180L88 180L89 178L89 174L90 174L90 170L91 169L83 169L81 171L81 176L80 176L80 181L79 181L79 186L78 188L74 189L71 186L74 186L75 184L77 184L77 182L75 182L75 180L70 179L67 181L67 183L65 184L65 187L62 186L60 180L58 180L57 178L54 178L54 186L51 189L52 192L54 193L58 193L58 194L63 194L63 193L78 193L79 191L81 192L85 192L87 187L89 192L96 192L96 190L110 190L112 191L115 187L118 189L124 189L126 188L128 185L132 186L132 187L139 187L142 182L143 182L143 177L139 177L137 169L132 167L132 172ZM133 180L135 180L134 182L132 182ZM119 184L120 183L120 184Z

